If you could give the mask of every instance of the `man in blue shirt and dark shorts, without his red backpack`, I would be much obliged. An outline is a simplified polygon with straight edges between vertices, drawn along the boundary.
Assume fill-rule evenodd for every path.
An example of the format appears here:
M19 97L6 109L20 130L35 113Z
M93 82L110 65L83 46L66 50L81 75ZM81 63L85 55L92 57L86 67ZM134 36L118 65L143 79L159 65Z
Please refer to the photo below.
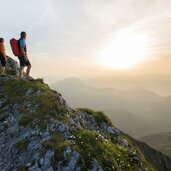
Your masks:
M32 80L33 78L30 77L31 63L30 63L30 61L28 59L28 55L27 55L26 37L27 37L26 32L21 32L20 39L18 40L19 49L21 52L21 55L18 56L18 59L20 61L19 77L21 79L23 78L24 67L27 67L26 73L25 73L26 79Z

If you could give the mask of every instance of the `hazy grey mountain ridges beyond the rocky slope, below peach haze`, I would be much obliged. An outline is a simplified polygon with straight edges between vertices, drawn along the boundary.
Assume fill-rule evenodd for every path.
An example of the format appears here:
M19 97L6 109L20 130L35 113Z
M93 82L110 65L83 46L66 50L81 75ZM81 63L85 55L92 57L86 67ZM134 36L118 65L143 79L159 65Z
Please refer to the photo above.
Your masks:
M60 91L74 108L83 106L107 112L115 125L135 138L171 131L171 96L163 97L141 87L119 91L88 84L69 78L50 87Z

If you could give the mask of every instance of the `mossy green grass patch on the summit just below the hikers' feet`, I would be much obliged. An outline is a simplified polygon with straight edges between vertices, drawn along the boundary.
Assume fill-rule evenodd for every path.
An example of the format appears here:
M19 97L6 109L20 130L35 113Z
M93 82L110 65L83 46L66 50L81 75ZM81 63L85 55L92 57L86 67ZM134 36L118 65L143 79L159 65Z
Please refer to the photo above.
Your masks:
M34 126L33 123L35 123L40 128L46 128L51 117L58 120L66 119L65 108L61 109L56 91L43 84L41 79L34 82L19 79L7 80L3 81L2 85L5 94L8 96L7 104L22 106L18 109L20 125ZM27 94L28 90L32 90L32 92Z

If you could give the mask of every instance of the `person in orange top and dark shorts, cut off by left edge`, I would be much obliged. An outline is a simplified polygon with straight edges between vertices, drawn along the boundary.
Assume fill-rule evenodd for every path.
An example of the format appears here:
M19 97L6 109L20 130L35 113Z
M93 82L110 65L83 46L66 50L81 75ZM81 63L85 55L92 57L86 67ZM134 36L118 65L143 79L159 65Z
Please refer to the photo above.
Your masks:
M4 45L4 39L0 38L0 61L1 61L1 70L0 75L5 76L5 67L6 67L6 50Z

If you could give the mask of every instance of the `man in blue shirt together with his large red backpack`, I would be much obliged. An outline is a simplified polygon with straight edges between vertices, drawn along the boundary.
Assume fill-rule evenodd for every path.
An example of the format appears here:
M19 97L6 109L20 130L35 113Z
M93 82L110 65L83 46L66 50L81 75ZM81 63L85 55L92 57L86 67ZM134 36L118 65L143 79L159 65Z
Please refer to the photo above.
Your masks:
M10 44L14 55L18 57L20 62L19 78L23 79L25 76L27 80L33 80L33 78L30 77L31 63L27 55L26 37L26 32L21 32L20 39L18 41L11 39ZM27 67L26 73L24 72L25 67Z

